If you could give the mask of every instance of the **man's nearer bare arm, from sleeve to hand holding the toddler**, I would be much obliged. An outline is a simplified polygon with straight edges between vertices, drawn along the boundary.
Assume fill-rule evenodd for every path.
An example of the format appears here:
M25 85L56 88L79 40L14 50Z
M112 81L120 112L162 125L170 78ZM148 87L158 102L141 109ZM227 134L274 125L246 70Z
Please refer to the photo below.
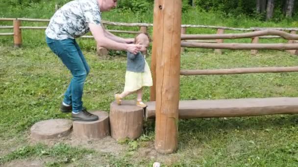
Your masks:
M101 47L113 50L126 50L134 54L139 51L140 45L116 42L106 37L104 29L99 24L89 23L89 28L95 41Z

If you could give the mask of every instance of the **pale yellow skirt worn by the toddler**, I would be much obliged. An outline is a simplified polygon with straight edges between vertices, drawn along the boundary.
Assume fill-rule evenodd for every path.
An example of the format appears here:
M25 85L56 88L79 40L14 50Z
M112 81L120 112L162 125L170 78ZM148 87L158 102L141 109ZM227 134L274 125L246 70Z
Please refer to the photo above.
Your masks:
M152 76L148 63L145 60L144 72L126 71L124 91L136 91L143 86L152 86Z

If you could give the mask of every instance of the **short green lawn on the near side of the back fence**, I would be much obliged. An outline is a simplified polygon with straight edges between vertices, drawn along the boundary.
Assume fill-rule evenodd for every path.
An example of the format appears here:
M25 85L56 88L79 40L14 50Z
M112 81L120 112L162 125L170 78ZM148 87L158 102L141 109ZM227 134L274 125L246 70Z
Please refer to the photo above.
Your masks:
M58 107L71 79L70 73L45 46L0 48L0 110L3 111L1 118L4 118L0 120L0 141L4 141L2 149L7 152L1 157L1 162L57 157L51 153L46 157L41 155L41 150L54 151L56 148L29 146L26 136L30 126L38 121L69 118L69 115L61 114ZM84 105L108 112L113 94L122 91L124 86L125 57L102 60L95 51L83 52L91 67L84 89ZM150 58L148 61L150 63ZM249 51L225 51L223 55L216 55L211 50L190 49L181 55L181 69L293 66L297 63L296 56L282 51L260 51L252 56ZM181 76L180 99L297 97L297 78L297 73ZM133 98L134 95L129 97ZM145 89L144 100L149 101L149 88ZM154 141L154 125L145 130L145 138L124 142L129 149L118 156L98 151L95 154L100 155L96 156L100 161L113 166L149 166L153 161L159 161L168 166L294 167L298 161L297 122L295 115L180 120L179 148L176 153L162 156L162 159L144 156L132 161L140 149ZM89 153L88 150L66 146L70 151L61 151L59 157L73 157L76 151L82 152L80 158L75 158L77 161L67 161L66 164L92 165L85 162L83 156ZM7 151L11 147L20 148ZM22 153L23 148L25 154ZM65 163L63 160L49 163L59 166Z

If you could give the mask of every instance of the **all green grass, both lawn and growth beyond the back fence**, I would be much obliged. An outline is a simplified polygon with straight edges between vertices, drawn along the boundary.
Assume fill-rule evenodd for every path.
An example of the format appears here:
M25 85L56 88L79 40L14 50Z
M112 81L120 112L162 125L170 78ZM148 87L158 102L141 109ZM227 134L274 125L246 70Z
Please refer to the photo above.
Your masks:
M0 17L44 18L53 14L54 2L1 8ZM134 14L114 10L103 19L121 22L152 22L152 11ZM195 9L182 16L184 24L230 27L297 27L297 21L261 22L244 16L223 17ZM1 25L11 22L1 21ZM23 22L23 25L45 26L46 23ZM109 26L109 29L124 29ZM137 30L137 27L125 28ZM10 30L1 29L0 32ZM152 28L149 29L152 33ZM232 33L237 31L226 31ZM212 29L190 28L190 34L216 33ZM147 123L144 135L137 141L122 141L127 146L118 155L95 148L72 146L61 141L53 146L32 144L29 128L36 122L66 118L59 112L71 75L46 46L43 30L23 30L23 47L15 49L12 37L0 37L0 165L14 160L49 159L46 166L163 166L184 167L296 167L298 164L298 118L296 115L211 118L179 120L179 147L171 155L141 154L152 148L154 124ZM128 37L125 36L124 37ZM131 37L131 36L130 36ZM110 59L96 55L94 40L78 39L91 67L84 87L83 102L88 109L109 112L113 95L124 87L126 67L123 52ZM225 42L250 42L225 40ZM260 40L260 42L287 42ZM147 59L150 63L150 57ZM214 54L211 49L186 49L181 55L181 69L219 69L237 67L296 66L298 57L284 51L228 51ZM298 73L264 73L241 75L180 76L180 100L298 97ZM128 99L134 99L131 95ZM149 101L149 88L144 100ZM91 155L92 154L92 155ZM91 158L90 158L91 157ZM91 160L92 161L91 161Z

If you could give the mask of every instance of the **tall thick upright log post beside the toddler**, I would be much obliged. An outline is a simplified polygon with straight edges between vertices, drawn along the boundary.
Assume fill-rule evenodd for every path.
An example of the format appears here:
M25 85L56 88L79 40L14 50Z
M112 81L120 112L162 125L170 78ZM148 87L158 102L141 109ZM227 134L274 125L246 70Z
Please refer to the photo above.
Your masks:
M155 149L173 153L178 146L181 0L155 0L153 46L156 57ZM154 50L153 49L153 50Z

